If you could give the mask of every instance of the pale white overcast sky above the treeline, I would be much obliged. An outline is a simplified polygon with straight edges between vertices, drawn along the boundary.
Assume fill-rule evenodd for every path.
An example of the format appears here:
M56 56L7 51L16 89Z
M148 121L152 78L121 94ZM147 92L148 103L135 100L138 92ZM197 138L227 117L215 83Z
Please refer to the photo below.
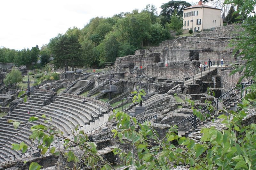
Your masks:
M188 0L197 3L198 0ZM120 12L141 11L147 4L160 6L169 0L1 0L0 48L39 48L70 27L83 28L91 18Z

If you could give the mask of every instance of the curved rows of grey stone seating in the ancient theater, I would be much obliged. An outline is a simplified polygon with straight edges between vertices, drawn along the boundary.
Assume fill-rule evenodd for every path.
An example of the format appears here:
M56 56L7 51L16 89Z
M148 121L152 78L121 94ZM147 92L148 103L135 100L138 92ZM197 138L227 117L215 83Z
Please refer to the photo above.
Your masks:
M4 157L21 153L12 150L13 143L24 142L28 147L34 146L32 149L37 149L35 146L37 141L31 142L29 140L31 134L29 130L33 125L53 125L63 132L63 136L72 138L72 132L77 125L79 130L84 130L84 133L92 133L108 121L108 114L102 114L98 119L92 121L91 115L95 117L95 115L102 112L106 113L106 110L102 108L105 104L99 101L87 99L87 102L83 102L83 98L80 96L63 94L52 103L44 106L45 100L50 98L49 91L36 91L28 102L18 104L10 115L0 118L0 163L14 159L13 156ZM28 111L30 114L28 114ZM52 121L44 122L46 119L42 118L42 115L46 115L47 118L51 117ZM31 116L40 118L34 122L28 122ZM23 124L14 129L12 123L8 123L10 119L24 122L28 126ZM29 154L26 153L25 155ZM18 158L20 157L16 156L16 159Z

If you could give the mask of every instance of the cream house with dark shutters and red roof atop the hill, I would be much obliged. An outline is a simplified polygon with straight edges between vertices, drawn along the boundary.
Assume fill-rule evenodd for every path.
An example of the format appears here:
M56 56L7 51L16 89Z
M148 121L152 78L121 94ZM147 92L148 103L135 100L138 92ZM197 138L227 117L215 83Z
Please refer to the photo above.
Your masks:
M183 29L197 32L217 26L223 26L221 9L204 5L202 1L183 9Z

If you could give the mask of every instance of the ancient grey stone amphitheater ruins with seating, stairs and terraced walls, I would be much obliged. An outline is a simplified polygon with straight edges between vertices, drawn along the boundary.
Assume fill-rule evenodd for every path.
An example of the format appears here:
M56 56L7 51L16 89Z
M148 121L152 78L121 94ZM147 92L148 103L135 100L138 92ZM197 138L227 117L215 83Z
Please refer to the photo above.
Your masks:
M219 129L223 129L220 122L211 121L221 113L211 113L211 117L202 122L194 117L185 99L194 100L196 107L202 107L199 110L202 113L207 112L205 100L211 100L217 111L223 107L236 108L237 101L244 95L242 89L236 87L243 73L230 73L235 65L243 64L243 61L233 53L228 43L241 30L237 27L218 27L210 32L163 41L158 47L137 50L135 55L117 58L114 65L100 72L77 70L62 73L61 80L44 82L35 88L26 103L13 100L10 103L11 108L14 106L13 110L0 118L0 166L26 169L29 165L21 166L19 161L35 160L32 153L38 152L36 142L31 143L29 140L28 126L14 129L12 123L7 122L9 119L26 122L29 126L39 123L54 125L68 138L72 138L74 128L78 125L97 144L98 152L112 163L118 160L112 153L115 147L124 151L131 149L131 146L122 145L112 138L111 129L116 125L115 120L108 121L110 114L113 114L112 107L136 116L139 122L152 122L160 138L174 124L180 128L179 135L195 141L200 139L203 126L217 124ZM210 66L209 58L212 61ZM224 58L223 66L221 58ZM204 62L207 67L199 71L200 63ZM250 79L244 79L243 82L243 87L252 84ZM142 104L133 105L131 92L138 85L147 94L143 96ZM215 92L215 96L208 95L208 87ZM60 88L65 90L57 94ZM110 92L112 95L109 95ZM83 102L84 98L86 102ZM255 123L254 113L251 110L244 124ZM52 122L45 123L44 118L28 122L29 117L42 115L51 117ZM20 154L11 149L12 143L22 141L31 147L28 150L31 152ZM62 144L63 141L55 141L55 145ZM52 157L50 154L39 158L45 168L63 169L71 166L63 163L64 158Z

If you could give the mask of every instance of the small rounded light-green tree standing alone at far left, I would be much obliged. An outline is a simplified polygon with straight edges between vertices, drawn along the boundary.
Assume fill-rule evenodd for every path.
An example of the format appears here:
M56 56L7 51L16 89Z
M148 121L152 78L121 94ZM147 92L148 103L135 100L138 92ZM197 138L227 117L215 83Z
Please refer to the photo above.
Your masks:
M21 81L22 81L21 72L18 69L13 67L11 72L6 74L5 79L4 79L4 84L5 85L15 85L16 86Z

